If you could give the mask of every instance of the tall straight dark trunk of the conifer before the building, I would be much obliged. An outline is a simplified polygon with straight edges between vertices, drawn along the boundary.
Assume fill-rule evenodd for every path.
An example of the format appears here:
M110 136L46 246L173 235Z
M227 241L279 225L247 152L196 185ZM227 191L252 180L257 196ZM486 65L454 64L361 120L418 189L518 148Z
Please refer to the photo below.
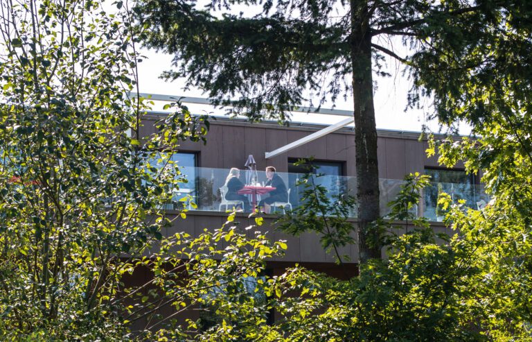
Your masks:
M371 35L367 0L351 0L351 63L353 65L353 101L355 108L355 151L357 171L357 203L359 221L359 259L380 258L378 232L371 229L372 221L380 216L377 129L373 108L371 75Z

